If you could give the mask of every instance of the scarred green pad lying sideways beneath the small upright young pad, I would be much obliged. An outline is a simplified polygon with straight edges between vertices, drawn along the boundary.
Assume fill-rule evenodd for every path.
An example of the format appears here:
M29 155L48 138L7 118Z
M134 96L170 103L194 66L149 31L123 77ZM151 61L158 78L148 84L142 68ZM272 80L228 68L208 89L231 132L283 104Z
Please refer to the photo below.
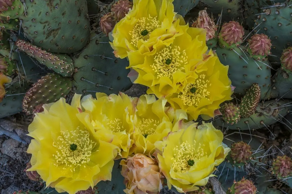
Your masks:
M277 122L278 118L282 119L287 115L289 110L291 109L289 106L285 106L285 104L289 104L292 100L285 99L284 100L270 100L265 101L264 103L260 103L256 108L256 113L251 115L248 118L241 118L237 124L227 124L226 122L222 123L222 120L218 119L213 121L214 126L219 127L227 127L228 129L235 130L252 130L252 129L267 129L265 126L274 124ZM283 106L283 107L281 107Z

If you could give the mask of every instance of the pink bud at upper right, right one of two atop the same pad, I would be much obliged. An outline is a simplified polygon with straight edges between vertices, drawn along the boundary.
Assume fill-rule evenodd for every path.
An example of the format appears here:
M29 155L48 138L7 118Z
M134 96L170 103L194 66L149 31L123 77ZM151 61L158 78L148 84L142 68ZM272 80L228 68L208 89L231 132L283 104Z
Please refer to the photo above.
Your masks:
M271 40L267 35L255 34L248 42L248 53L254 59L265 59L271 54Z

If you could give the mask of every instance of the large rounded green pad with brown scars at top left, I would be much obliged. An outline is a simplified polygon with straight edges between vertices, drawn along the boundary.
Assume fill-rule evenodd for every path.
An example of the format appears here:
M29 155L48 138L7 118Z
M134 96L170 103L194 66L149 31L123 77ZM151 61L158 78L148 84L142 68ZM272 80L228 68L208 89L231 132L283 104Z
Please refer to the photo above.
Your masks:
M90 35L86 0L26 1L27 16L20 16L26 37L34 45L55 53L74 53Z

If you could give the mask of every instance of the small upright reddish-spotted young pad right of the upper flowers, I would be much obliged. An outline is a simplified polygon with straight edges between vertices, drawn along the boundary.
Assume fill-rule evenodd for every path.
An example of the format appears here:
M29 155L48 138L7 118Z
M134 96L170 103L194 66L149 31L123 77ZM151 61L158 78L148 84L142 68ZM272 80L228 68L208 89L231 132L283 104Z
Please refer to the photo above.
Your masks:
M253 83L241 99L241 103L239 105L241 118L247 118L254 114L259 102L260 86L258 86L258 83Z

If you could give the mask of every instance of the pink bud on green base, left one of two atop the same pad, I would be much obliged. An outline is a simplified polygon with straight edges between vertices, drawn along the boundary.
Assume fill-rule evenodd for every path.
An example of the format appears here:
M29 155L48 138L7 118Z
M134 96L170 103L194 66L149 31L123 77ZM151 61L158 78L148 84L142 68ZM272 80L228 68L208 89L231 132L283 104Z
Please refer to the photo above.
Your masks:
M223 24L219 33L219 45L222 48L232 49L238 47L244 35L244 28L239 22L230 21Z

